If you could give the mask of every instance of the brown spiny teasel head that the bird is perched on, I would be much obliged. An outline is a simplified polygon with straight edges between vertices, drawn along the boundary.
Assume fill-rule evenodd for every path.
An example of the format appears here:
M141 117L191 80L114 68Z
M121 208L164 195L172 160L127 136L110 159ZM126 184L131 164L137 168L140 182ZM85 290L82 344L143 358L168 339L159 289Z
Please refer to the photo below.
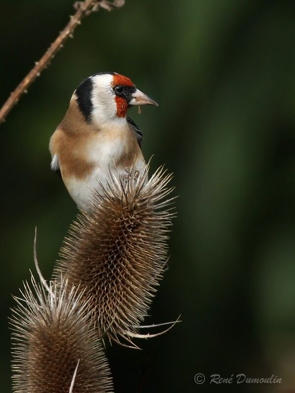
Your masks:
M129 179L110 173L103 195L95 193L90 213L71 226L54 270L84 291L99 336L136 347L134 337L147 315L168 257L168 229L174 213L163 167L148 180L148 168ZM134 180L136 179L136 180ZM125 344L126 341L125 341Z

